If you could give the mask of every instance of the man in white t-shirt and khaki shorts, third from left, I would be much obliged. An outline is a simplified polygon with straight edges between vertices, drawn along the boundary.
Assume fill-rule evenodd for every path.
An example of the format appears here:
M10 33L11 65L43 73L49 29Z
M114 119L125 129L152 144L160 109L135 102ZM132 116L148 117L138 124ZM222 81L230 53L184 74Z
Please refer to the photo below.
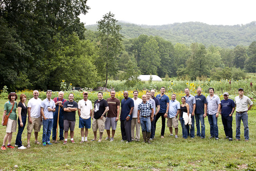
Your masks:
M38 142L38 132L40 132L41 128L41 121L42 121L42 114L41 114L41 102L42 100L38 98L39 92L38 90L33 91L33 98L28 101L28 144L27 147L31 147L30 145L30 137L31 133L34 129L34 134L35 134L35 143L36 144L41 144Z

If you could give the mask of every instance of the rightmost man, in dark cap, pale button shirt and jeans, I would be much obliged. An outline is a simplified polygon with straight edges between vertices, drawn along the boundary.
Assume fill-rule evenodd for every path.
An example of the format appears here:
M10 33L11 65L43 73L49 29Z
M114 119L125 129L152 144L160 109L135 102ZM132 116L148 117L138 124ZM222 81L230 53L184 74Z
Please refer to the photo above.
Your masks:
M243 121L243 127L245 128L245 142L249 141L249 127L248 127L248 113L253 103L249 97L243 95L243 89L238 89L239 96L235 97L235 106L236 106L236 141L240 141L240 125L241 120ZM249 105L249 107L248 107Z

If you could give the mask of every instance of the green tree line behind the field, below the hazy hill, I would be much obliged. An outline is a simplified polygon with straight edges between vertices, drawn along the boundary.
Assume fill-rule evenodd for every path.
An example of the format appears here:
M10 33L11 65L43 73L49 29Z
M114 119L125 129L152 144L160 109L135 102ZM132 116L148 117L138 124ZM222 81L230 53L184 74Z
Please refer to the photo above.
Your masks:
M108 79L136 84L139 74L181 79L241 79L256 72L256 42L234 49L176 43L160 36L124 38L109 12L97 31L86 30L78 15L86 0L3 0L0 3L0 87L59 90L107 87Z

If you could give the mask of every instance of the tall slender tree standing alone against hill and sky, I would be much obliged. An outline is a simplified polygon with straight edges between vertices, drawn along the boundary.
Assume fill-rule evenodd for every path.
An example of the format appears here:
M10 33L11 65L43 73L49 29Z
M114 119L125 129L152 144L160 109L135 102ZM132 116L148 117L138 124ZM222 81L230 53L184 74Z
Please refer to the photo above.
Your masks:
M105 14L98 21L99 31L99 58L96 60L101 76L105 75L105 87L108 84L109 75L116 75L118 71L117 55L122 49L122 35L119 33L121 26L116 24L115 15L111 12Z

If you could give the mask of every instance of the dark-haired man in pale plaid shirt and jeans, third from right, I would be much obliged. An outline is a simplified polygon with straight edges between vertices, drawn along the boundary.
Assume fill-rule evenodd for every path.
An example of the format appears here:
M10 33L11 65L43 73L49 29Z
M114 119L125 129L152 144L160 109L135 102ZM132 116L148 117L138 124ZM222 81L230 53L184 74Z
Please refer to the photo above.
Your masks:
M207 101L207 116L208 116L208 121L210 124L210 134L211 138L215 138L216 140L219 139L219 132L218 132L218 116L220 113L220 97L217 95L214 95L214 88L209 88L209 93L206 97Z

